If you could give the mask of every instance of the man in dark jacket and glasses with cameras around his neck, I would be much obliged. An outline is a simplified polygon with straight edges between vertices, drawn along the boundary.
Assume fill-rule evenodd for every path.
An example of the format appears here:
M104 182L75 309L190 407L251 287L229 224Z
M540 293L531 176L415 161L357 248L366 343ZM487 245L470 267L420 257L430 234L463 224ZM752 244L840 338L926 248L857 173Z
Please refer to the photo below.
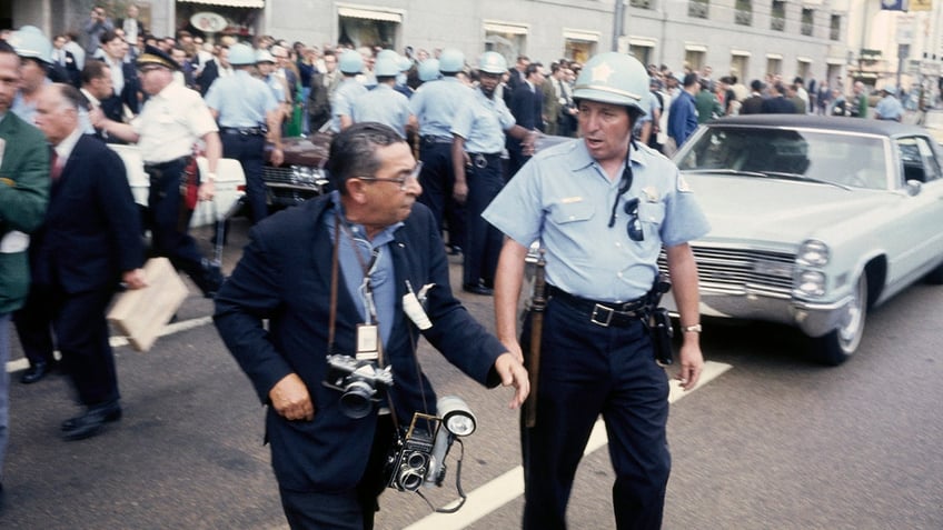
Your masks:
M518 359L451 294L435 220L415 204L421 187L408 143L386 126L356 123L334 138L327 169L339 191L252 229L214 318L268 406L289 524L360 530L373 528L396 437L415 412L437 413L416 357L420 329L475 380L516 387L512 408L529 387ZM345 368L359 362L373 374ZM378 376L385 370L391 384ZM363 418L341 402L355 386L379 401Z

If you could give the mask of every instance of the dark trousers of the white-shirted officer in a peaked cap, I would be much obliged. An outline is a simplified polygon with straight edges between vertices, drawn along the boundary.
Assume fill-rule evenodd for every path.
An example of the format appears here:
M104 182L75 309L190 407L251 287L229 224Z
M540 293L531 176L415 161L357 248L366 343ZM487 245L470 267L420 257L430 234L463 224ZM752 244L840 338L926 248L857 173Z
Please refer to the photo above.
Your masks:
M166 256L178 270L186 272L200 289L207 287L206 263L197 242L188 233L190 216L180 217L180 179L188 158L149 166L148 222L151 243L158 256ZM190 212L192 214L192 212ZM180 229L181 221L186 221Z

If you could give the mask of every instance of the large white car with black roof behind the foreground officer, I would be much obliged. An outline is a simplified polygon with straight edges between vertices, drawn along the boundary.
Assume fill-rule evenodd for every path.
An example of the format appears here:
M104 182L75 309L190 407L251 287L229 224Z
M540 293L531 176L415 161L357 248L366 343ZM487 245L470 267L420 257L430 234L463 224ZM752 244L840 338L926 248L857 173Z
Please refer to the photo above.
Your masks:
M922 128L724 118L674 160L712 224L692 242L706 316L793 326L840 364L870 308L921 279L943 283L940 146Z

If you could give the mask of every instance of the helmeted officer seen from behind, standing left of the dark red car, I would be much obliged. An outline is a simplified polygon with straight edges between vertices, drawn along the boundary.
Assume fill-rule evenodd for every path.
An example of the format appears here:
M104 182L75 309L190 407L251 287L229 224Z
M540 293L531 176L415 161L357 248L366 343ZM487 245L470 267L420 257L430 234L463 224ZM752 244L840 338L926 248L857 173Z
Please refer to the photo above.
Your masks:
M209 88L206 102L219 123L222 156L239 160L246 174L246 196L252 222L268 214L262 180L266 137L272 143L271 163L280 166L281 108L268 86L252 77L255 52L247 44L229 48L229 63L235 73L219 78Z

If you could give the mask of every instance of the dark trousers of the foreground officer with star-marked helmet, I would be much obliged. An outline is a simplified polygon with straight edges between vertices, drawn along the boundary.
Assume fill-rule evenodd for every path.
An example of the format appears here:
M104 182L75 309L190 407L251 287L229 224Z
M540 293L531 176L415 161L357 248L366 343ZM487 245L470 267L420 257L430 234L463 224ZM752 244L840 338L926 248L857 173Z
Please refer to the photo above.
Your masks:
M528 318L520 341L525 357L529 338ZM642 321L603 327L552 298L540 351L537 423L520 428L524 529L566 528L573 478L600 413L616 473L617 528L661 528L671 471L668 382Z

